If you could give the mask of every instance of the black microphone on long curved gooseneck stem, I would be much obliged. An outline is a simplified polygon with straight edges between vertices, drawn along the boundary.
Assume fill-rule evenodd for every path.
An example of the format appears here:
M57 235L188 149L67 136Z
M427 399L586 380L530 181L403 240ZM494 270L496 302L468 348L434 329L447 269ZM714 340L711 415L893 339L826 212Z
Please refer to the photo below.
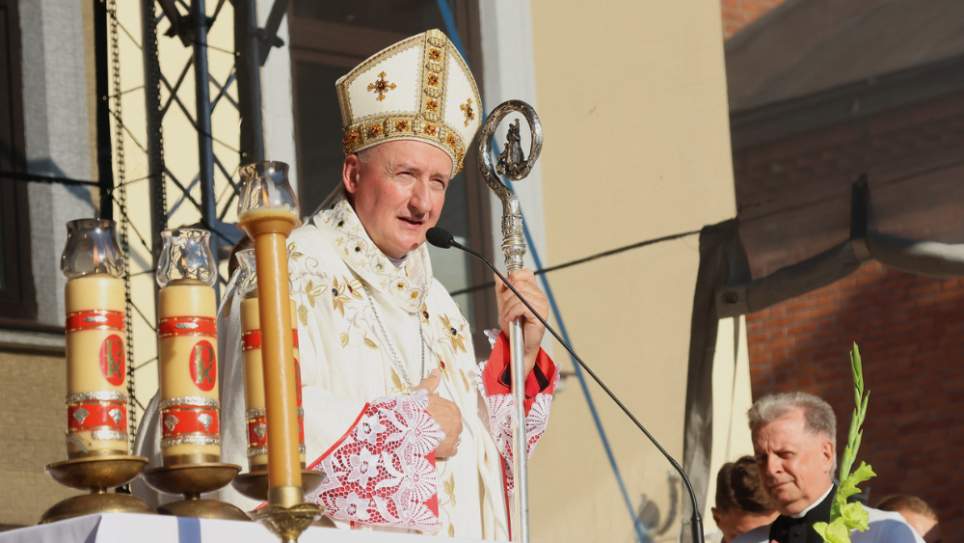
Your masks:
M535 315L536 319L540 323L542 323L543 326L545 326L546 330L548 330L549 333L552 334L552 337L556 338L556 341L558 341L559 344L562 345L566 349L566 351L569 352L569 355L572 356L572 359L575 360L579 364L579 366L582 367L582 369L586 370L586 373L588 373L589 376L592 377L592 380L595 381L596 384L603 389L603 392L605 392L606 395L609 396L609 399L612 400L616 404L616 406L619 407L619 409L623 412L624 415L629 417L629 420L631 420L633 424L636 425L636 428L639 428L639 431L642 432L647 439L649 439L650 443L652 443L653 446L656 447L656 449L663 455L663 457L666 458L666 460L670 463L670 465L673 466L673 469L675 469L676 472L679 473L680 477L683 479L683 484L686 485L686 491L690 496L690 503L693 509L693 516L690 518L690 529L693 532L693 540L696 543L703 543L703 519L700 515L699 502L697 502L696 500L696 493L693 492L693 485L690 482L690 478L686 475L686 472L683 470L683 466L679 465L679 462L677 462L676 459L673 458L673 456L670 455L669 452L667 452L666 449L664 449L663 446L659 444L659 441L657 441L656 438L653 437L653 434L649 433L649 430L647 430L646 427L643 426L643 423L639 422L639 419L637 419L636 416L633 415L632 411L630 411L629 408L626 407L626 405L623 404L623 402L616 396L616 394L613 393L613 391L610 390L608 386L606 386L606 383L604 383L602 379L600 379L599 376L596 375L596 372L592 371L592 369L590 369L589 366L587 366L586 363L582 361L582 358L580 358L579 355L576 354L576 351L574 351L572 347L569 346L569 344L566 343L564 339L562 339L562 336L560 336L559 333L556 332L556 330L552 326L550 326L545 319L542 318L542 315L540 315L532 307L532 304L529 303L529 300L526 300L525 297L522 296L522 294L520 294L519 291L516 290L514 286L512 286L512 283L509 282L509 279L502 272L496 269L496 267L493 266L492 263L489 262L487 258L482 256L481 253L473 249L470 249L465 245L462 245L461 243L455 241L455 237L452 236L452 233L449 232L448 230L445 230L444 228L439 228L437 226L429 228L428 232L425 233L425 239L426 241L428 241L435 247L438 247L439 249L449 249L449 248L455 247L456 249L464 251L474 256L475 258L479 259L483 264L486 265L487 268L492 270L495 273L495 275L502 280L505 286L509 287L509 290L511 290L512 293L515 294L516 298L518 298L519 301L522 302L522 304L525 305L526 308L529 311L531 311L533 315Z

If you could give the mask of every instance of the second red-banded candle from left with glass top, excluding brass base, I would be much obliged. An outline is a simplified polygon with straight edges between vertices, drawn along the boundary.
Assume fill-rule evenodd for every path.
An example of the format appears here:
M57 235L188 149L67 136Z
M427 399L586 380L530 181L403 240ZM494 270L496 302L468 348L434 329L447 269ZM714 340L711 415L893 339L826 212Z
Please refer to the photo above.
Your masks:
M157 334L165 466L221 460L216 276L209 236L194 228L162 233Z

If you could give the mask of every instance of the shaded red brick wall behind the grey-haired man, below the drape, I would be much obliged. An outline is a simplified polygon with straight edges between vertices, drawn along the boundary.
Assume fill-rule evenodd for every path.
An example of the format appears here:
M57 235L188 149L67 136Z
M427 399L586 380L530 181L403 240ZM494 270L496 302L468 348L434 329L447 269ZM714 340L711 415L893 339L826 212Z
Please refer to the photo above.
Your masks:
M749 315L747 334L754 397L804 390L825 398L838 441L853 408L847 353L856 341L871 391L860 453L878 474L871 501L915 494L937 509L944 534L964 531L964 278L867 263Z

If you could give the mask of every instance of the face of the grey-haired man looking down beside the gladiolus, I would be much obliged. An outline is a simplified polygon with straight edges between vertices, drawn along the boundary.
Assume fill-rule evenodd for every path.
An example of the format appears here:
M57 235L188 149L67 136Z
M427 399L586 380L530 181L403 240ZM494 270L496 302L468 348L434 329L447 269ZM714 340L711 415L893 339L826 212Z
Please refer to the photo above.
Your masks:
M785 515L802 512L833 482L834 443L806 427L802 409L756 428L753 450L763 484Z

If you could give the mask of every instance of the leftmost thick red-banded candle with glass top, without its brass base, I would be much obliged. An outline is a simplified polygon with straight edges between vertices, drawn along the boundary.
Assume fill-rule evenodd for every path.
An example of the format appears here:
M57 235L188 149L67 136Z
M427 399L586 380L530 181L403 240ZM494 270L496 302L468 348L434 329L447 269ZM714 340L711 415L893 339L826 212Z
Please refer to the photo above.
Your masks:
M113 222L67 224L67 457L129 454L124 281Z

